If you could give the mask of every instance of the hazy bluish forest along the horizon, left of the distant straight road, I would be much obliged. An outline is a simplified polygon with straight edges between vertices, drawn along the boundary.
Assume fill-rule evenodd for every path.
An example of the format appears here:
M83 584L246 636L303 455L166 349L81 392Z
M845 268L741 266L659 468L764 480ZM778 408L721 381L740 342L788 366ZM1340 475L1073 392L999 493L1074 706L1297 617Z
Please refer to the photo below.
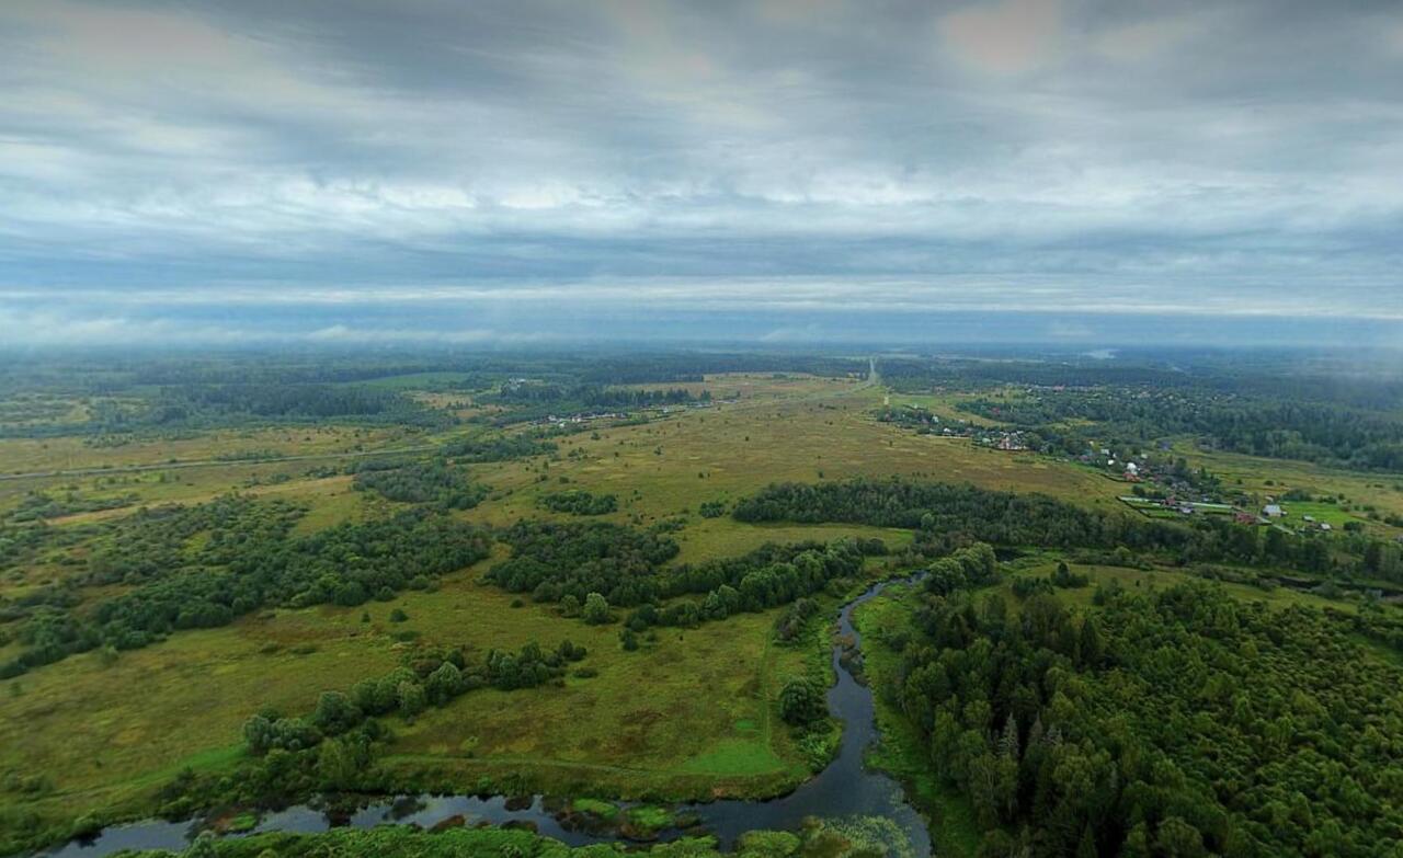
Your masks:
M14 360L0 377L0 398L51 395L81 397L87 416L80 421L35 421L34 408L0 414L0 437L58 437L67 435L153 433L243 426L267 422L316 422L335 419L358 423L403 423L442 428L456 422L443 409L431 408L403 391L365 384L376 379L419 373L428 390L473 391L491 401L494 388L512 387L519 379L539 379L544 400L536 393L501 402L506 415L478 419L499 425L544 416L550 411L627 409L686 401L671 391L637 391L624 384L678 384L703 381L730 372L814 373L861 377L866 360L801 355L506 355L459 356L422 353L377 359L363 355L318 355L316 359L267 355L222 355L170 359L159 355L73 356L58 363ZM685 393L685 391L683 391ZM703 394L704 395L704 394ZM72 411L62 402L42 415Z

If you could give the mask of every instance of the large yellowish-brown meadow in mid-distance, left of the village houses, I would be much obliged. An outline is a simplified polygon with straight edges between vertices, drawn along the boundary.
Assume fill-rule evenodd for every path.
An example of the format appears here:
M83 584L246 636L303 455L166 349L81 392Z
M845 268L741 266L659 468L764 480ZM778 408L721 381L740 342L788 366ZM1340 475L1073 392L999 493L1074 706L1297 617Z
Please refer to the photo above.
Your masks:
M537 515L536 498L574 488L619 495L615 520L654 523L737 499L776 481L926 477L984 488L1037 491L1093 506L1117 505L1117 485L1070 464L1010 456L964 439L918 436L878 423L881 391L829 383L786 401L676 412L641 426L561 439L561 460L499 463L480 471L499 495L471 516L506 523ZM542 481L544 478L544 481ZM693 516L694 517L694 516ZM704 527L704 526L702 526Z

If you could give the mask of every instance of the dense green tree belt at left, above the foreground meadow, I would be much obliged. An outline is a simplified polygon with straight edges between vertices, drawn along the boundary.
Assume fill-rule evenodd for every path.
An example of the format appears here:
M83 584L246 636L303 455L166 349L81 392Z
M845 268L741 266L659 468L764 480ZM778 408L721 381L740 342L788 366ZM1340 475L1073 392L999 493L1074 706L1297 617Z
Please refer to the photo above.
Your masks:
M265 604L355 606L389 599L483 559L491 544L477 527L422 508L304 537L290 536L295 516L289 508L246 498L150 516L119 531L94 558L87 579L137 586L83 611L36 608L20 629L25 651L0 665L0 676L95 646L133 649L177 629L224 625ZM209 519L219 526L198 526L210 516L222 516ZM187 554L187 540L206 530L203 547Z

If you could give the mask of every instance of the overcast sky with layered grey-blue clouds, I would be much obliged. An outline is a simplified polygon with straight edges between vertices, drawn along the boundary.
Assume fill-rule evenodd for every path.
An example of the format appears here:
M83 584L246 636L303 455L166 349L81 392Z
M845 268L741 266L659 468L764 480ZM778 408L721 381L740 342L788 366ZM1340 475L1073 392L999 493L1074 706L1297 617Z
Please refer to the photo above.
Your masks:
M1403 4L4 0L0 345L1403 346Z

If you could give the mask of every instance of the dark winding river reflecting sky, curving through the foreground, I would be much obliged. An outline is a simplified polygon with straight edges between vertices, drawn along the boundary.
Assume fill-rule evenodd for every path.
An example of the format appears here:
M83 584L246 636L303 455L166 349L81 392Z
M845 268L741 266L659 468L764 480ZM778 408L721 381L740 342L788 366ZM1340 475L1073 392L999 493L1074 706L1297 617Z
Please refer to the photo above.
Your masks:
M909 582L911 579L906 579ZM840 639L860 642L853 627L853 611L881 593L888 583L873 585L866 593L843 606L838 615ZM905 582L899 582L905 583ZM828 691L829 711L843 721L843 739L838 757L818 777L805 781L794 792L770 801L717 801L685 805L679 816L690 816L699 827L714 834L723 848L730 848L735 838L753 830L798 830L805 817L818 816L842 823L843 820L867 820L866 831L873 834L870 820L885 820L875 831L894 854L927 858L930 855L930 833L922 816L905 801L901 785L882 772L863 767L863 751L877 739L873 695L849 672L842 660L843 646L833 646L833 670L838 684ZM362 808L349 820L338 820L356 829L370 829L379 824L418 824L434 827L445 820L462 817L466 824L518 823L533 827L544 837L560 840L570 845L586 845L619 840L617 834L598 834L567 829L546 809L542 796L509 799L506 796L401 796ZM627 805L624 805L627 806ZM299 805L265 815L254 831L324 831L333 826L325 815L313 808ZM123 826L111 826L88 840L74 840L58 850L42 852L55 858L101 858L121 850L173 850L185 848L195 822L149 820ZM678 837L680 831L666 831L662 840Z

